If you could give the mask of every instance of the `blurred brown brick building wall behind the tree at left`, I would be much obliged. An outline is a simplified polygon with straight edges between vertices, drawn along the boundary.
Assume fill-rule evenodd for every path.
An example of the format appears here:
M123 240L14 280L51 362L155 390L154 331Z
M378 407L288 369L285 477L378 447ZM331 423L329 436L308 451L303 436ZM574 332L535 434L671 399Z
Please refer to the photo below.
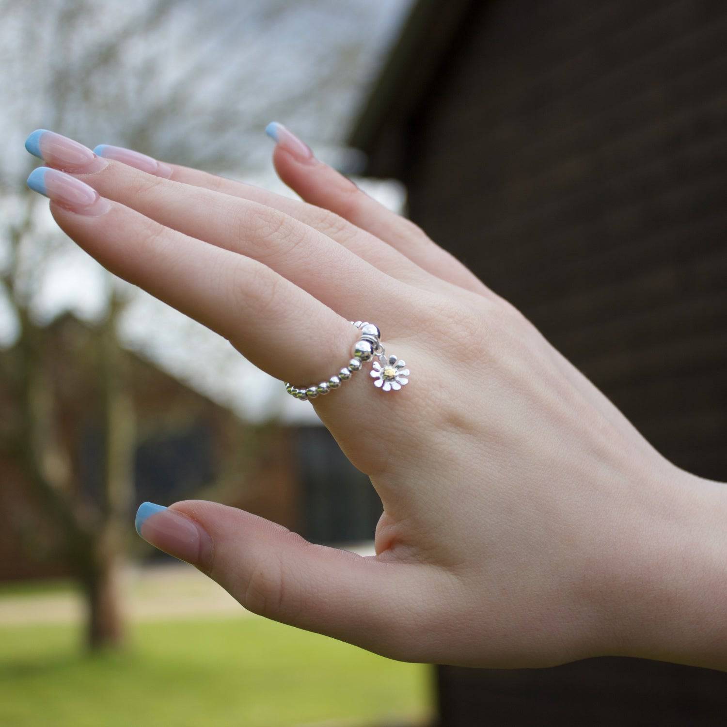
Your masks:
M49 401L63 452L68 457L73 502L87 518L103 502L105 447L99 367L91 342L95 332L73 316L44 332ZM13 351L0 369L11 369ZM270 424L255 427L165 374L147 361L123 356L136 434L134 497L129 502L129 555L174 559L134 533L134 513L144 500L169 505L190 497L241 507L289 528L300 527L300 481L295 433ZM0 377L0 444L4 427L20 421L20 401ZM8 438L8 441L12 441ZM82 504L82 507L81 507ZM76 572L65 553L63 529L47 513L23 467L20 453L0 447L0 583L68 577Z

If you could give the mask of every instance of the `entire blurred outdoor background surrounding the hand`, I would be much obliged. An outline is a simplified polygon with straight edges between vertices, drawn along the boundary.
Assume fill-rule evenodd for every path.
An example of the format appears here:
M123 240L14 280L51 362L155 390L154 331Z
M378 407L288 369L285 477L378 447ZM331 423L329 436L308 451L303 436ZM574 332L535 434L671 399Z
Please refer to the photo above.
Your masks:
M723 725L727 675L399 664L246 614L134 532L243 507L371 551L308 403L108 276L25 190L38 127L281 193L262 129L409 214L673 462L727 480L727 7L0 0L0 724Z

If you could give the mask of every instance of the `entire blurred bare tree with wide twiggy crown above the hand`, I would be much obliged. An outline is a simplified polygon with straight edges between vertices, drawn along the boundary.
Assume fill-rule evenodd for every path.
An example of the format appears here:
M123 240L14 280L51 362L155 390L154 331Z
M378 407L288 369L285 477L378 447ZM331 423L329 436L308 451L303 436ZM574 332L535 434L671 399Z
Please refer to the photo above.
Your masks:
M396 4L405 2L382 6ZM6 0L0 14L4 138L20 142L43 126L79 140L230 170L267 160L260 132L276 116L294 116L304 134L324 129L319 138L340 138L377 49L361 31L381 12L362 0L305 6L221 0L209 7L179 0L50 0L42 12L32 3ZM308 31L317 37L306 41ZM57 352L49 316L37 305L64 241L47 225L40 198L17 193L31 164L20 149L9 149L0 171L8 209L0 230L0 302L15 326L12 340L0 348L0 394L12 412L0 425L0 453L12 458L38 506L60 529L59 555L74 564L89 603L89 647L113 646L124 635L116 593L134 494L134 411L118 325L132 292L105 276L92 350L85 354L97 371L102 433L102 476L89 498L65 436L68 410L51 375Z

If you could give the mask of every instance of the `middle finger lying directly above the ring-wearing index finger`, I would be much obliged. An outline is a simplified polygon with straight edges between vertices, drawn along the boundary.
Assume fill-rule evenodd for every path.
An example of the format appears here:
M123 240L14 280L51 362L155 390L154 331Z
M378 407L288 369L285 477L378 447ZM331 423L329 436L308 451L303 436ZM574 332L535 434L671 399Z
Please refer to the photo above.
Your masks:
M54 141L56 137L51 135ZM42 147L46 139L44 134ZM60 137L56 146L68 141ZM94 161L105 166L84 175L84 180L101 196L185 235L265 262L342 315L360 318L364 310L366 318L395 332L391 307L406 301L401 282L317 230L257 202L167 180L116 161L98 157Z

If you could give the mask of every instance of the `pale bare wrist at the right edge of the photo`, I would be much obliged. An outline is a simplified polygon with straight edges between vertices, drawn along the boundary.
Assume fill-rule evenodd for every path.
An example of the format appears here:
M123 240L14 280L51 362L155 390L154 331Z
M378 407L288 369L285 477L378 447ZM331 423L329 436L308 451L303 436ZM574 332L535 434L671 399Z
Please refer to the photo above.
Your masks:
M609 653L727 670L727 486L660 469L611 571Z

